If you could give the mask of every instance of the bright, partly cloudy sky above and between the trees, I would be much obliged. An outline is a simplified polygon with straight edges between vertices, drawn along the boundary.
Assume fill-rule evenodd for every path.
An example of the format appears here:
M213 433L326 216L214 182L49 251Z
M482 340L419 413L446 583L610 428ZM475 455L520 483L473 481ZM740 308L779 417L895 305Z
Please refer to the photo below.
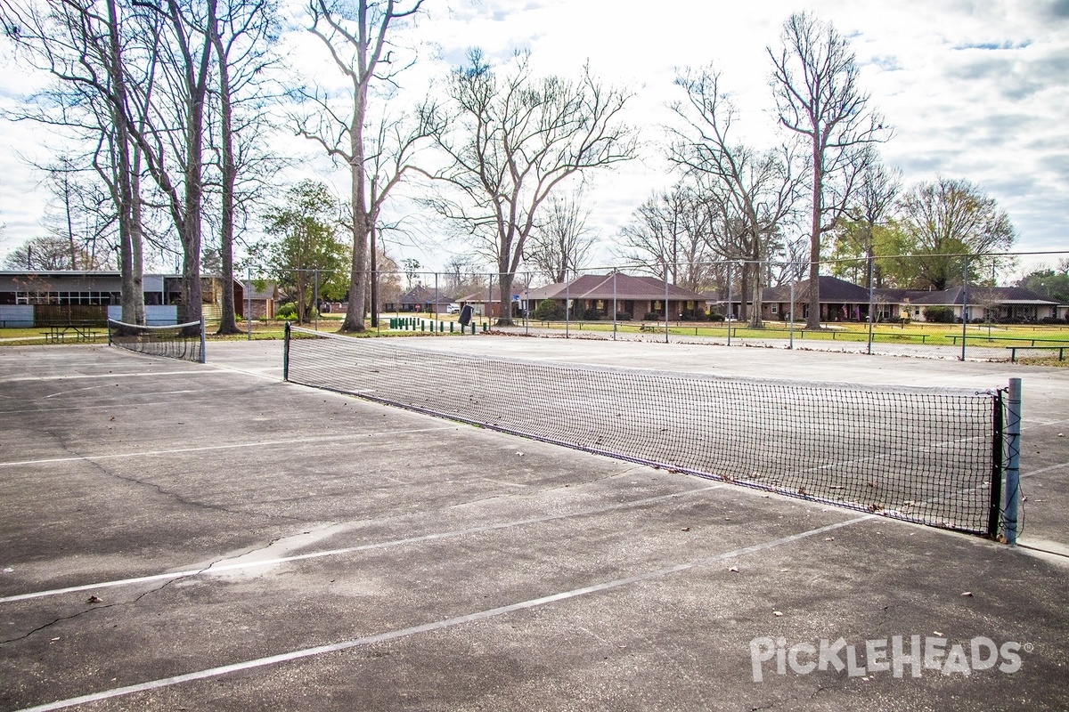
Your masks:
M642 128L644 155L592 176L591 224L602 237L595 258L602 264L635 207L673 181L657 141L671 122L667 105L682 98L672 84L676 73L713 63L740 110L745 140L771 146L776 129L766 47L778 44L784 20L803 10L851 38L862 85L895 129L884 160L901 169L907 185L936 176L971 180L1009 212L1018 250L1069 254L1069 0L676 0L660 6L425 0L423 6L425 14L404 37L420 44L419 63L403 76L413 100L440 85L469 47L481 47L491 60L530 50L539 73L576 76L588 62L606 82L634 92L628 121ZM294 17L299 21L299 13ZM315 42L295 34L286 53L299 70L329 80ZM0 54L0 106L10 109L38 80L11 60L10 47ZM3 254L41 233L48 196L27 160L47 156L48 136L6 121L0 132ZM310 144L280 137L278 146L303 154L306 174L345 192L344 176L316 158ZM451 249L424 237L397 251L435 266Z

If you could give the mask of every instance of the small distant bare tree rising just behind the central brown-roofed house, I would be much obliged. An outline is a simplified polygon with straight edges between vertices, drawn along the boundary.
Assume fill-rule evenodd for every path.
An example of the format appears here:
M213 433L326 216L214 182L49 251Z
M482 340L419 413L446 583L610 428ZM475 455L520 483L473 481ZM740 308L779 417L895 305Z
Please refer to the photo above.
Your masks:
M555 193L531 233L531 248L525 257L546 279L560 283L587 260L594 235L587 227L590 208L583 205L582 191Z

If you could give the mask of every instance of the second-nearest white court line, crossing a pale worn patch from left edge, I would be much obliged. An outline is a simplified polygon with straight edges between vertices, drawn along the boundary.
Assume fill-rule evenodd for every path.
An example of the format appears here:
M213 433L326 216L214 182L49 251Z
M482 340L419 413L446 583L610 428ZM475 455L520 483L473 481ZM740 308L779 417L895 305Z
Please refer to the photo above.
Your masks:
M672 500L676 497L681 497L690 494L697 494L698 492L708 492L709 490L716 490L723 487L728 487L727 482L721 485L712 485L710 487L701 487L696 490L686 490L684 492L673 492L671 494L661 494L655 497L646 497L644 500L635 500L633 502L623 502L620 504L611 505L608 507L595 507L593 509L584 509L582 511L569 512L566 515L546 515L545 517L533 517L531 519L520 519L512 522L499 522L497 524L486 524L485 526L476 526L468 529L456 529L453 532L437 532L434 534L425 534L419 537L409 537L407 539L393 539L391 541L378 541L370 544L360 544L359 547L346 547L344 549L329 549L326 551L309 552L307 554L294 554L293 556L280 556L278 558L268 558L259 561L243 561L241 564L227 564L224 566L210 566L206 569L188 569L186 571L172 571L170 573L155 573L148 576L137 576L134 579L117 579L114 581L103 581L93 584L82 584L80 586L69 586L67 588L52 588L50 590L34 591L31 594L17 594L15 596L5 596L0 598L0 603L12 603L14 601L26 601L35 598L45 598L46 596L59 596L61 594L76 594L78 591L94 590L97 588L111 588L114 586L130 586L134 584L148 583L150 581L167 581L173 579L185 579L189 576L201 576L201 575L212 575L215 573L222 573L224 571L233 571L235 569L248 569L255 566L275 566L277 564L286 564L289 561L301 561L310 558L323 558L324 556L344 556L345 554L355 554L361 551L373 551L376 549L390 549L392 547L403 547L405 544L419 543L423 541L436 541L439 539L454 539L456 537L464 537L471 534L483 534L485 532L494 532L496 529L507 529L514 526L525 526L527 524L542 524L545 522L552 522L559 519L571 519L572 517L586 517L588 515L600 515L607 511L615 511L617 509L628 509L630 507L639 507L646 504L652 504L654 502L662 502L664 500Z

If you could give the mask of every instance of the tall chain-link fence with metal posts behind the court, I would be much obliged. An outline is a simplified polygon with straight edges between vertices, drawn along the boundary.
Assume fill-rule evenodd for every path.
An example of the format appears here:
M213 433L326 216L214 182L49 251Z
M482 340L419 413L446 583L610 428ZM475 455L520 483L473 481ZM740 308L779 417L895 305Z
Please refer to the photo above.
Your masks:
M1029 266L1021 267L1024 262ZM981 342L988 348L1027 342L1037 350L1069 343L1059 329L1069 317L1069 252L877 256L818 267L816 281L808 263L745 259L556 274L368 271L356 280L363 285L361 304L350 299L347 272L293 269L247 274L241 311L253 320L325 330L359 320L379 333L456 333L450 322L467 311L482 331L779 339L788 347L833 341L868 352L873 344L896 343L954 347L960 358Z

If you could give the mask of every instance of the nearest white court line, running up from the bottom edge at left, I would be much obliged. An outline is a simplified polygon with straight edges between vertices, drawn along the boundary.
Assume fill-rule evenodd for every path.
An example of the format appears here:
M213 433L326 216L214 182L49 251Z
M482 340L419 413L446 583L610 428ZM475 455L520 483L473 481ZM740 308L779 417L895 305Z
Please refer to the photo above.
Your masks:
M497 616L513 613L515 611L525 611L528 608L534 608L541 605L546 605L548 603L556 603L557 601L564 601L568 599L577 598L579 596L598 594L601 591L611 590L614 588L620 588L621 586L629 586L631 584L641 583L644 581L649 581L651 579L661 579L699 566L708 566L710 564L716 564L718 561L724 561L731 558L738 558L740 556L745 556L747 554L753 554L759 551L773 549L775 547L779 547L786 543L791 543L793 541L816 536L818 534L833 532L843 526L850 526L851 524L856 524L857 522L863 522L874 518L876 518L874 515L865 515L863 517L857 517L855 519L847 520L846 522L839 522L837 524L828 524L827 526L821 526L816 529L809 529L808 532L802 532L801 534L792 534L790 536L786 536L780 539L774 539L772 541L765 541L763 543L754 544L752 547L735 549L733 551L729 551L724 554L717 554L715 556L699 558L693 561L686 561L684 564L677 564L675 566L669 566L663 569L656 569L654 571L647 571L645 573L635 574L633 576L628 576L625 579L607 581L600 584L593 584L591 586L585 586L583 588L573 588L572 590L561 591L559 594L553 594L551 596L543 596L541 598L534 598L527 601L522 601L520 603L502 605L496 608L487 608L485 611L479 611L477 613L471 613L466 616L445 618L443 620L437 620L430 623L423 623L422 626L402 628L400 630L387 631L385 633L378 633L377 635L369 635L362 638L342 640L341 643L332 643L330 645L316 646L314 648L304 648L303 650L293 650L291 652L283 652L277 655L269 655L267 658L258 658L255 660L247 660L241 663L220 665L219 667L210 667L205 670L199 670L197 673L187 673L185 675L176 675L170 678L161 678L159 680L152 680L150 682L141 682L138 684L127 685L125 687L115 687L113 690L106 690L104 692L92 693L90 695L82 695L80 697L71 697L68 699L62 699L55 702L47 702L45 705L38 705L36 707L26 708L21 710L21 712L46 712L48 710L61 710L67 707L74 707L75 705L84 705L86 702L96 702L103 699L111 699L113 697L131 695L134 693L148 692L150 690L159 690L161 687L169 687L171 685L181 684L183 682L192 682L195 680L216 678L219 677L220 675L227 675L230 673L249 670L257 667L265 667L267 665L277 665L279 663L285 663L293 660L300 660L301 658L311 658L313 655L322 655L324 653L350 650L352 648L375 645L376 643L396 640L398 638L407 637L409 635L416 635L418 633L438 631L446 628L452 628L454 626L462 626L465 623L471 623L479 620L486 620L487 618L495 618Z

